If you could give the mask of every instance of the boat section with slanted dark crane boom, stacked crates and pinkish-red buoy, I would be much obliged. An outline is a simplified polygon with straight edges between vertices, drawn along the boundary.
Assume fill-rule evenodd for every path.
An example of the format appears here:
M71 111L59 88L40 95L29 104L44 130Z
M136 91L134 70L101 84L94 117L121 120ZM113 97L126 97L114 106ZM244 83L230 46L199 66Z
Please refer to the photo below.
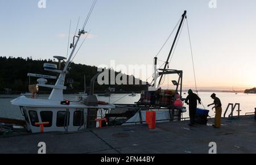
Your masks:
M146 122L147 111L156 112L156 122L181 120L182 114L187 111L183 106L184 98L182 98L183 71L169 69L168 66L171 54L175 49L177 37L180 35L180 29L184 20L187 19L186 14L187 11L184 11L177 23L179 27L163 68L157 68L158 54L154 57L154 74L152 81L148 82L148 90L142 91L141 98L134 104L115 104L115 109L111 109L109 113L105 114L108 125L143 124ZM164 45L166 43L167 41ZM175 90L163 90L160 87L166 75L177 75L178 78L171 81Z

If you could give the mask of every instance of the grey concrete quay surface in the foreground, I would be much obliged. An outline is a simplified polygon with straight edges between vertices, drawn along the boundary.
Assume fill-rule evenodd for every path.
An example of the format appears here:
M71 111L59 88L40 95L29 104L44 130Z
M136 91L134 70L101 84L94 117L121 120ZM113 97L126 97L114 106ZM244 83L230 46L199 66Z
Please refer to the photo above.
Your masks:
M38 143L46 143L46 153L208 153L209 142L217 143L217 153L256 153L254 116L222 119L221 128L188 126L189 121L147 125L94 128L79 133L43 133L0 137L0 153L38 153Z

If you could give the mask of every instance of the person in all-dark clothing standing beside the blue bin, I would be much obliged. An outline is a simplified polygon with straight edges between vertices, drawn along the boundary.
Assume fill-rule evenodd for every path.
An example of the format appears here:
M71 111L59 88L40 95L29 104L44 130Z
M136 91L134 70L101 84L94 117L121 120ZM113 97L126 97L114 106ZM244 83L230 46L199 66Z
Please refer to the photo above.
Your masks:
M197 94L194 94L192 90L188 90L188 96L185 99L185 103L189 105L189 118L190 118L190 126L195 124L195 117L196 117L196 107L197 107L197 100L199 104L201 104L201 99Z

